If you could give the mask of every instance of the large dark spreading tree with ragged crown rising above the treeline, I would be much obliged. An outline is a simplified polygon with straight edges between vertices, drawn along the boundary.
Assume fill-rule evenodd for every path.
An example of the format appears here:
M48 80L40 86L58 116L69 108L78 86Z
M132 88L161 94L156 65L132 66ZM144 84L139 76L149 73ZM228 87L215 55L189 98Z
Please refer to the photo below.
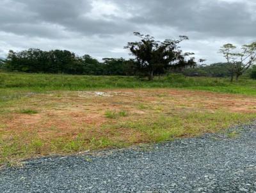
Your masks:
M166 39L163 42L156 41L150 35L134 33L141 40L139 42L128 42L125 49L129 49L136 57L136 70L147 75L152 80L154 75L164 73L170 68L184 68L195 65L194 58L186 59L193 53L182 53L178 46L187 36L180 36L179 40Z

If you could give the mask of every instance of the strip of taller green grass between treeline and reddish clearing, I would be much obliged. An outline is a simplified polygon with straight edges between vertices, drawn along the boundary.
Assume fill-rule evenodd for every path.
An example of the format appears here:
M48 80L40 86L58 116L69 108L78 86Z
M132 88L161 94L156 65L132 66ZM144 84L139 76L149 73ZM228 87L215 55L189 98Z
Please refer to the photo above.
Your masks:
M22 97L24 91L82 90L114 88L186 88L221 93L256 95L256 81L241 78L230 83L225 78L169 75L154 81L125 76L63 75L0 72L0 100ZM10 93L10 95L4 95ZM12 95L13 94L13 95ZM3 97L4 96L4 97Z

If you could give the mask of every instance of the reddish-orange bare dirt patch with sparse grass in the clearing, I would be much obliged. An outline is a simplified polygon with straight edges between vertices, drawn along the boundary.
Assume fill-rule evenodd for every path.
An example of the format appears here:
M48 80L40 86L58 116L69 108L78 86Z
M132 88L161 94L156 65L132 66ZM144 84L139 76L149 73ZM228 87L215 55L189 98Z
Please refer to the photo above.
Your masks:
M158 107L159 112L176 110L206 109L211 112L222 109L230 112L256 112L256 98L241 95L227 95L205 91L184 91L175 89L118 89L113 91L68 91L44 95L33 95L25 104L40 108L38 114L13 113L5 123L8 129L56 127L63 130L95 126L110 121L104 112L127 109L132 114L145 114ZM145 109L138 105L145 104ZM19 108L15 106L15 108ZM115 121L115 120L112 120Z

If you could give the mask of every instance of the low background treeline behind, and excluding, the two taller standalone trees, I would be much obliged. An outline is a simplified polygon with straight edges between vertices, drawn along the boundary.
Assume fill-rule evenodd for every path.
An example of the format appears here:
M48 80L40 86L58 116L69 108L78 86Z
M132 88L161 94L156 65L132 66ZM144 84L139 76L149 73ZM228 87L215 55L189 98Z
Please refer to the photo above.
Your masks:
M79 57L68 50L42 51L28 49L20 52L10 50L6 60L0 59L0 69L28 73L69 73L81 75L140 75L134 59L104 58L102 62L88 54ZM170 70L186 76L230 77L228 63L194 65ZM163 74L157 73L156 75ZM256 66L250 68L246 76L256 79Z

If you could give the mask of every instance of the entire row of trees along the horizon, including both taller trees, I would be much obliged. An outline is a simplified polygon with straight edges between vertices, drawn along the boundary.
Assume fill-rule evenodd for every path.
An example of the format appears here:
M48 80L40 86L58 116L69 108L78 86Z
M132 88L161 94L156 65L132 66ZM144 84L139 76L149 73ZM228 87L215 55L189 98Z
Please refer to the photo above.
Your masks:
M241 52L235 52L236 46L228 43L220 52L227 63L198 65L205 59L195 61L193 52L183 52L179 43L189 40L188 36L179 39L155 40L153 36L134 32L139 41L128 42L128 49L134 59L104 58L102 62L89 55L76 56L68 50L28 49L20 52L10 50L6 61L0 60L0 68L9 71L33 73L70 73L84 75L138 75L148 81L156 75L168 72L184 73L187 76L230 77L232 82L241 75L256 78L256 42L243 45Z

